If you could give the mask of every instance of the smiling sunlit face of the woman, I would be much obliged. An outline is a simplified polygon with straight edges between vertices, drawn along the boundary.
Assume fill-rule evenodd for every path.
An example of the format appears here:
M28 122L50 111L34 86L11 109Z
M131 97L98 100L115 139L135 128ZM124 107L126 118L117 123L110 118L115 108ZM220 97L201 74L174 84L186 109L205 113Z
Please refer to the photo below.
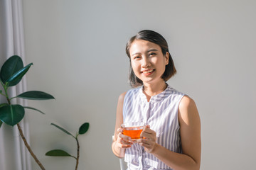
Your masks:
M146 40L134 40L129 49L134 74L143 84L164 81L165 66L169 63L169 53L163 55L161 47Z

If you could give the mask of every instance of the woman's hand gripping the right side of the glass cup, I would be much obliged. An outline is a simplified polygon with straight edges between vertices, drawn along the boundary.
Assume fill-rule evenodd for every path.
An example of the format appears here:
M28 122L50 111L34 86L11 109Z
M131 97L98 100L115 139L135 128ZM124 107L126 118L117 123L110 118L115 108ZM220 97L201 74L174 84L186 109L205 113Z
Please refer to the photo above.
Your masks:
M146 152L151 153L156 146L156 132L151 130L149 125L146 125L142 130L141 137L137 142L144 147Z

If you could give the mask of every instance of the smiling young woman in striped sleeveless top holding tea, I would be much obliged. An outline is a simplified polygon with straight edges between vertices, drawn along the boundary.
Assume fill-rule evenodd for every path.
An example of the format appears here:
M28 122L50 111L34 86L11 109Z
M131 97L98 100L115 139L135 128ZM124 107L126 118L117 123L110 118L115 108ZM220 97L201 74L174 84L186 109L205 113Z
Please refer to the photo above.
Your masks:
M175 73L163 36L142 30L127 42L132 87L119 96L112 151L128 169L200 169L201 123L192 98L166 84ZM130 142L121 125L144 122Z

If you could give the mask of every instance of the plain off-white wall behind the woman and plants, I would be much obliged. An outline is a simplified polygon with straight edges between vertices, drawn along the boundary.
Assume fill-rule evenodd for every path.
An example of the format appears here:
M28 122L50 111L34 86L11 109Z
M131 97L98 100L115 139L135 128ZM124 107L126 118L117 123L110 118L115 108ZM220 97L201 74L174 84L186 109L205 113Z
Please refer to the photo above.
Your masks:
M169 42L178 74L169 84L197 103L201 169L252 169L255 159L255 1L23 0L28 89L55 101L30 101L31 142L46 169L75 169L75 141L50 123L78 131L80 169L119 169L111 151L117 98L130 87L124 47L138 30ZM38 169L34 164L34 169Z

